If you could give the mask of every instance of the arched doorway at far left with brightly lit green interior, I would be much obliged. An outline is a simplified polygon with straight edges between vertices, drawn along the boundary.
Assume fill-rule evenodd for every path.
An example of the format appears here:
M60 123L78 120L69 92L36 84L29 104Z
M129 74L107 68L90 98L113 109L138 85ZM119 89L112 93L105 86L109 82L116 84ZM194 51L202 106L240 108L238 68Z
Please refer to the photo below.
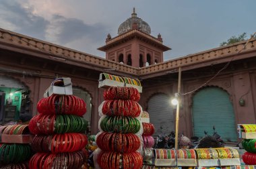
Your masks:
M20 80L0 76L0 124L20 120L25 122L31 117L28 88Z

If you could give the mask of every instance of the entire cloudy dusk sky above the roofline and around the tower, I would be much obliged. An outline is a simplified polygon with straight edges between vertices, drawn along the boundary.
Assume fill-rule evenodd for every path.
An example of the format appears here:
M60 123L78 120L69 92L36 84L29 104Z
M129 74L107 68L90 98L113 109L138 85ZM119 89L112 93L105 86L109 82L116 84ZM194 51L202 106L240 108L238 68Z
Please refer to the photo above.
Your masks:
M256 31L255 0L0 0L0 27L104 57L106 35L117 36L133 7L152 36L172 50L164 60L216 48L231 36Z

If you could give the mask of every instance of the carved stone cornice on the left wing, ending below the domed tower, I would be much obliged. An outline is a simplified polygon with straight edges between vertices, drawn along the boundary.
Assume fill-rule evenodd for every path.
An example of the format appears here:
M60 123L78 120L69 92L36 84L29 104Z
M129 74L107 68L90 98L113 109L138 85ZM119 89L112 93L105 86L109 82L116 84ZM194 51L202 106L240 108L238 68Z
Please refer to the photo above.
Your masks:
M79 62L83 64L88 64L90 66L95 66L101 68L102 71L105 69L116 70L117 72L131 74L136 76L139 74L137 68L113 62L111 60L106 60L97 56L86 54L84 52L79 52L77 50L72 50L70 48L65 48L63 46L58 46L49 42L38 40L36 38L31 38L29 36L24 36L15 32L8 30L3 30L0 28L0 43L7 46L8 48L20 48L17 52L28 53L32 51L38 53L38 56L43 54L43 58L48 60L71 60L73 62ZM11 48L11 50L13 50Z

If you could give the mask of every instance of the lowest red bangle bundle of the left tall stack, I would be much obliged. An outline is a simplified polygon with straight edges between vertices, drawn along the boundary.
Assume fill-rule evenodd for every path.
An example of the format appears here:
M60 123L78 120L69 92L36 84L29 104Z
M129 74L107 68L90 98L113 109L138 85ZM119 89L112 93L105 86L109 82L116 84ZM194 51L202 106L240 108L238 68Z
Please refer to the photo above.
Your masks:
M29 167L36 169L81 168L84 164L84 157L81 151L59 154L36 153L30 159Z

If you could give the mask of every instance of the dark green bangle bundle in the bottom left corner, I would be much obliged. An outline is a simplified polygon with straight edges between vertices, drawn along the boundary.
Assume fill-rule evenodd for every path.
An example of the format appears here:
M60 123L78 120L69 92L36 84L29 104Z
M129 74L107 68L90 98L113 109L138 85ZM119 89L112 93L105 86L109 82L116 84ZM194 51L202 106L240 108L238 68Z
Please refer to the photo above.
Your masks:
M0 163L19 163L24 162L32 155L28 144L1 144Z

